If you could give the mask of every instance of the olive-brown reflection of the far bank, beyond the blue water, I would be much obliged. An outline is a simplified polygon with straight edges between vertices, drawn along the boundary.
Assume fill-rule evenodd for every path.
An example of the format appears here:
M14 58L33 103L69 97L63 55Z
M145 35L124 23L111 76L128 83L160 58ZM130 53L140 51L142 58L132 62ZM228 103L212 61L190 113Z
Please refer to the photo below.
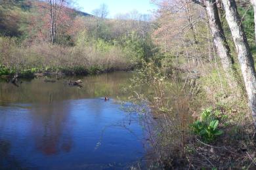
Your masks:
M67 77L66 80L56 82L44 82L45 78L37 78L28 82L23 80L19 87L0 81L0 102L14 103L48 103L49 101L62 101L66 99L81 99L88 97L114 97L121 95L120 85L124 84L132 74L110 73L96 76L81 77L83 88L70 87L64 84L66 80L77 78ZM51 93L49 93L51 91Z

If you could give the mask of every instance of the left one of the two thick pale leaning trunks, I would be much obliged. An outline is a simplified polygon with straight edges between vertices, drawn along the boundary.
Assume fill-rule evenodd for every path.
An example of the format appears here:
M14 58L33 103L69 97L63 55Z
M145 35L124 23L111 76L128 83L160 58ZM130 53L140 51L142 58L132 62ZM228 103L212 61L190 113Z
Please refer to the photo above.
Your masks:
M230 48L226 42L226 37L224 36L217 3L215 0L207 0L205 1L205 6L211 35L213 36L213 42L217 48L219 57L221 58L221 63L223 65L228 84L231 88L236 90L238 88L238 82L236 81L235 76L236 70L234 69L234 59L230 54Z

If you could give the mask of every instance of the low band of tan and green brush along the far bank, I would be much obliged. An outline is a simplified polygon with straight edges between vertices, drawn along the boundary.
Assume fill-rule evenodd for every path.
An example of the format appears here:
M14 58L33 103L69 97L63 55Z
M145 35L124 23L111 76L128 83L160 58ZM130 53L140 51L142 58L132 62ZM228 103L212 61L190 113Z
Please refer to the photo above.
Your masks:
M16 72L38 68L82 74L127 70L137 65L137 61L131 60L134 57L121 46L100 40L75 46L47 42L26 46L18 39L0 37L0 52L0 64Z

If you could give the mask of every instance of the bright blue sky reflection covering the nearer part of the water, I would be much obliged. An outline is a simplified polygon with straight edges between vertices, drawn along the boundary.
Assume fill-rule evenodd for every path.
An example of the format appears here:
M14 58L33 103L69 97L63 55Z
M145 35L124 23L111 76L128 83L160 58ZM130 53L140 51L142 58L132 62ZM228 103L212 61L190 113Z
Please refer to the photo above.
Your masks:
M0 108L0 143L10 141L10 154L24 167L118 165L144 154L136 114L123 112L112 100L79 99L30 107Z

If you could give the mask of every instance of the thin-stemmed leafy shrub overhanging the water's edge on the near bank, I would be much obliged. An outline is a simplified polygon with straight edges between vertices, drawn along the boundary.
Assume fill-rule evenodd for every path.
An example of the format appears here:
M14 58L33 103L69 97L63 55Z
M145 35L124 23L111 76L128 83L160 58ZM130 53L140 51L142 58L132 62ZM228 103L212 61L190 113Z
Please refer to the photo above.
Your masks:
M147 141L154 152L152 169L171 169L186 161L192 95L173 77L165 75L154 63L144 63L130 84L123 88L131 93L129 101L139 106L135 109L142 115Z

